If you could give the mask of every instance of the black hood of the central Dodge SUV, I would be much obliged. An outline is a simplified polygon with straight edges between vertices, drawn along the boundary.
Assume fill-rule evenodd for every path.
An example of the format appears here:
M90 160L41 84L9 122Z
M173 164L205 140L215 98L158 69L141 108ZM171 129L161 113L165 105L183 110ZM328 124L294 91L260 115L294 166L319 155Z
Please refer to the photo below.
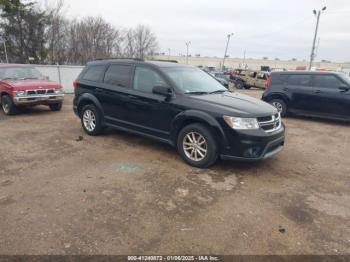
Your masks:
M277 114L277 109L270 104L238 92L193 95L191 98L206 104L211 104L217 107L220 112L224 111L225 114L238 117L261 117Z

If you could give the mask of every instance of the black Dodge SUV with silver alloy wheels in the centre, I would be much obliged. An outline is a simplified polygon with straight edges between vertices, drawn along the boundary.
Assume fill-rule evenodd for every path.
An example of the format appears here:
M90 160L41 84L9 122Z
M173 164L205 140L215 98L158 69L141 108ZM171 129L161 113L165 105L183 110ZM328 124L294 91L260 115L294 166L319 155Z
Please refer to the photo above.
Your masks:
M192 166L261 160L282 150L277 109L228 92L202 70L176 63L100 60L74 81L74 111L89 135L117 128L176 147Z

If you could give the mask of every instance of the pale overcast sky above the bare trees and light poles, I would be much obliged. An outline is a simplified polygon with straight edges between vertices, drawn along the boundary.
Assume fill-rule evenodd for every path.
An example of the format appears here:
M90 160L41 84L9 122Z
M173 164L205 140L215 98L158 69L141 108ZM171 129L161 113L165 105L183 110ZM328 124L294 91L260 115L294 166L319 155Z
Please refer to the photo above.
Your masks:
M145 24L160 51L178 55L223 56L227 34L234 33L231 57L308 59L316 18L321 16L317 60L350 61L350 0L73 0L69 17L102 16L118 27Z

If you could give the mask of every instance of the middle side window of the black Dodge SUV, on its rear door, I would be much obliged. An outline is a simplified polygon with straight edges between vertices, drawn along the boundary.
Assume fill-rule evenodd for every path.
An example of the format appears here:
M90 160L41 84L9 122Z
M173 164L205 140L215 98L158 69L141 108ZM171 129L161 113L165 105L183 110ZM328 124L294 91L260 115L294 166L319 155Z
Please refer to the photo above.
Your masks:
M131 66L111 65L106 71L104 82L118 87L129 87L130 77Z

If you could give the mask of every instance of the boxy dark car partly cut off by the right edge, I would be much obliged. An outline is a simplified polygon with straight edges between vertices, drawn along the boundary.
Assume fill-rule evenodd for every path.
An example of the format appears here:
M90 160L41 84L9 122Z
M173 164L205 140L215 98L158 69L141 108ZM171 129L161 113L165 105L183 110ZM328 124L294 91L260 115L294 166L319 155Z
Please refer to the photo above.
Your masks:
M295 114L350 120L350 79L343 73L272 72L262 99L284 116Z

